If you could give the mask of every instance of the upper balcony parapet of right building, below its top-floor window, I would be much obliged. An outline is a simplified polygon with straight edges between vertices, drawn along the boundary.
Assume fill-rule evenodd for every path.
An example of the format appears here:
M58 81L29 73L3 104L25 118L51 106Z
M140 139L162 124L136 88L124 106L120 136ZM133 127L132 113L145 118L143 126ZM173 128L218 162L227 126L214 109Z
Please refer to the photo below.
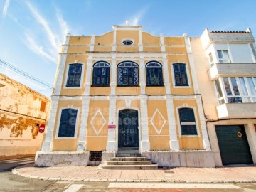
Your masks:
M210 80L220 76L256 75L256 63L215 63L208 70Z

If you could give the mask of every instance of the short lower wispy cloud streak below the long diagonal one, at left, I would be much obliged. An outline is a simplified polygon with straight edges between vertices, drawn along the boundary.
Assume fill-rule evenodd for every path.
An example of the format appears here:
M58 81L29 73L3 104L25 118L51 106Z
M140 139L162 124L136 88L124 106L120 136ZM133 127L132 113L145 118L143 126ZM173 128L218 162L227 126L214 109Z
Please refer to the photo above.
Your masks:
M43 46L38 45L38 43L36 42L36 40L31 36L31 34L29 33L25 33L26 36L26 46L28 46L29 49L31 49L33 51L33 53L36 53L37 55L41 55L44 58L48 58L48 60L53 61L53 62L57 62L56 57L52 56L48 53L46 53L46 51L43 50Z

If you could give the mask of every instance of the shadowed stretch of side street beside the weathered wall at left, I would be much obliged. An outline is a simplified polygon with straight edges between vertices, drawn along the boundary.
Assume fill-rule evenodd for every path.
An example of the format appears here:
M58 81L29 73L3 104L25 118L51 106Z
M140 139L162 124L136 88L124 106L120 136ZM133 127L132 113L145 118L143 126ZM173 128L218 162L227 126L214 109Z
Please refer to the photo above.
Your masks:
M0 172L11 171L16 166L21 166L24 164L33 164L35 162L35 157L26 157L21 159L9 159L0 161Z

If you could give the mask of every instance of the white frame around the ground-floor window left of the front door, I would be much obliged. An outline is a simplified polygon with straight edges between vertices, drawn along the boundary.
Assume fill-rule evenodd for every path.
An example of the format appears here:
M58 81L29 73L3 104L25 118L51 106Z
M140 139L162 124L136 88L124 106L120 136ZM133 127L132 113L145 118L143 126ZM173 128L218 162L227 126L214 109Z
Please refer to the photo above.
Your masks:
M77 112L77 117L75 120L75 133L73 137L58 137L58 132L60 129L60 117L62 114L62 110L65 109L74 109L78 110ZM59 114L58 114L58 122L57 122L57 127L56 127L56 132L55 132L55 139L76 139L78 137L78 122L79 122L79 117L80 117L80 108L79 107L60 107L59 108Z

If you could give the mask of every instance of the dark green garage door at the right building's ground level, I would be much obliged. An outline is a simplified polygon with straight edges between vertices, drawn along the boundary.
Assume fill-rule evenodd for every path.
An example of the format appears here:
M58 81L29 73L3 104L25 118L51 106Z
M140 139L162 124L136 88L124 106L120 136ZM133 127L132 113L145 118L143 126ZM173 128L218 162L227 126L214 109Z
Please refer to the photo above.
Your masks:
M252 164L252 155L242 125L215 126L223 165Z

